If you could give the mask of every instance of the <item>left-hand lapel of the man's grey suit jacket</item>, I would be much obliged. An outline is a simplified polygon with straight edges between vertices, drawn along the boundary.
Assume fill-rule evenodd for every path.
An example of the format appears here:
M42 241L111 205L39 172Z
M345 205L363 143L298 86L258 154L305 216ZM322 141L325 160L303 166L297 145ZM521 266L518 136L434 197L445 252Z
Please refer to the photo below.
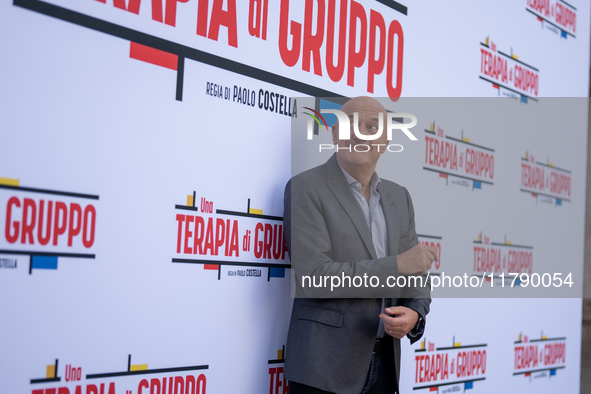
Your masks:
M339 203L355 225L355 228L361 236L361 239L367 247L371 257L376 259L376 251L373 246L373 241L371 240L371 233L369 232L369 228L365 222L365 217L363 216L363 212L359 207L359 203L351 191L351 186L349 186L347 183L347 178L345 178L345 175L339 167L336 154L326 162L326 172L326 184L333 192L336 199L339 200Z

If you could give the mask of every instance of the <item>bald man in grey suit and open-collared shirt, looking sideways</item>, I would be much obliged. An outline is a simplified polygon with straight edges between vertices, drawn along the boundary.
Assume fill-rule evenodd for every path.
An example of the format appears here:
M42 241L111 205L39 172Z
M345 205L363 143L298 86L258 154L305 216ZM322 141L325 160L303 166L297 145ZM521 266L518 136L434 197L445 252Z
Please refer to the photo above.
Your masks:
M375 136L380 116L385 128L386 110L372 98L349 100L341 111L352 124L357 113L361 134ZM339 140L337 122L332 135L337 153L293 177L285 191L286 240L298 285L304 277L365 274L384 284L388 276L424 275L436 252L417 242L410 196L375 172L387 134L365 141L351 132ZM367 149L355 149L360 144L373 145L362 152ZM284 373L292 394L397 392L400 338L414 342L423 334L429 289L353 290L331 289L330 282L298 286L302 298L294 299Z

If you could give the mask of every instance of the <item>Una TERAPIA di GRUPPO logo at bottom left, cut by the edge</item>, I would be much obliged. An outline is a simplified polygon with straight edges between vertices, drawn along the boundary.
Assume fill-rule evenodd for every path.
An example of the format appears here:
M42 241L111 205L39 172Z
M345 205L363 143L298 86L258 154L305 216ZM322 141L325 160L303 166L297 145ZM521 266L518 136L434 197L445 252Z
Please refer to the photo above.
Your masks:
M82 367L66 364L60 373L58 360L47 366L46 376L31 379L32 394L205 394L207 379L204 373L209 365L192 365L172 368L148 368L148 364L132 364L131 354L127 358L125 371L83 375ZM146 376L147 375L147 376ZM120 377L137 376L135 380L118 381ZM61 382L62 377L65 382ZM119 390L116 390L115 384Z

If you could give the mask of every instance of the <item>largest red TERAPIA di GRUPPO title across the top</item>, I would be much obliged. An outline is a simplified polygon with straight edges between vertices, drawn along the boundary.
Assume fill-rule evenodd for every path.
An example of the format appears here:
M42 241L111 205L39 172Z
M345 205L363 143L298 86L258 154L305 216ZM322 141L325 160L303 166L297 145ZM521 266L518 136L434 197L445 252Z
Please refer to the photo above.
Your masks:
M111 3L98 1L106 6ZM112 6L138 17L149 15L140 15L140 3L141 0L114 0ZM387 12L378 12L354 0L306 1L298 2L297 6L295 3L281 0L279 15L269 15L269 0L154 0L148 7L151 6L153 22L181 32L180 41L199 36L221 42L220 30L223 30L221 37L227 37L230 47L244 47L241 42L247 42L247 46L259 42L271 49L272 45L277 45L274 49L287 67L299 63L303 72L327 77L334 83L345 80L347 86L362 85L368 93L374 93L374 86L378 84L392 100L400 97L404 33L398 20L384 18ZM407 13L407 8L401 4L385 5L404 15ZM297 12L296 7L299 8ZM197 17L177 18L177 15ZM240 23L239 18L243 18ZM279 19L277 32L268 32L269 18ZM248 31L240 31L239 25L247 25Z

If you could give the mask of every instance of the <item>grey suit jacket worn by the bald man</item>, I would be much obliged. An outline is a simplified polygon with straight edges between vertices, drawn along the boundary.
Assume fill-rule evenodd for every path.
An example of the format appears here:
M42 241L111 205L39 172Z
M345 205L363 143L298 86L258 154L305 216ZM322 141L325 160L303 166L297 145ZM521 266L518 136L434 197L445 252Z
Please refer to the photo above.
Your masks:
M325 164L296 175L285 190L285 236L296 280L304 275L398 276L396 255L417 244L410 195L382 179L378 188L386 217L388 256L378 259L363 213L333 155ZM301 282L300 282L301 283ZM378 331L381 298L421 316L411 343L423 332L429 288L299 289L287 338L285 377L336 393L358 394L367 377ZM302 294L305 293L305 294ZM332 297L332 298L320 298ZM347 298L334 298L347 297ZM397 379L400 340L394 339Z

